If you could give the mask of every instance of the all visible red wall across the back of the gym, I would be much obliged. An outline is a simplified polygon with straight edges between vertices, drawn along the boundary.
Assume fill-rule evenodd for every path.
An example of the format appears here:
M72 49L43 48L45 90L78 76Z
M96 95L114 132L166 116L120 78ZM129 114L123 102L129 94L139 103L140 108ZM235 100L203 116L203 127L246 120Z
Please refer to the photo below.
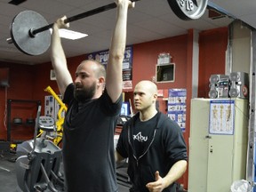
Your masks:
M188 30L187 35L174 36L143 44L133 45L132 85L142 79L151 80L156 76L156 61L158 54L169 52L172 62L175 63L175 81L173 83L158 83L158 89L185 88L187 89L187 116L186 132L184 137L188 144L190 124L190 99L192 97L192 53L193 30ZM208 97L209 77L212 74L225 73L225 51L228 44L228 28L216 28L203 31L199 37L199 76L198 97ZM69 58L68 68L75 75L77 65L84 60L84 55ZM50 80L51 63L36 66L5 64L0 62L0 68L9 67L10 88L8 99L41 100L44 114L44 96L50 93L44 89L50 85L54 92L59 93L55 81ZM0 118L4 119L4 94L5 89L0 88ZM125 91L125 100L132 99L132 90ZM30 116L30 111L17 114L17 116ZM15 114L13 115L15 116ZM26 132L23 132L26 134ZM31 136L31 135L30 135ZM4 121L0 122L0 140L6 140ZM188 188L188 171L179 180Z

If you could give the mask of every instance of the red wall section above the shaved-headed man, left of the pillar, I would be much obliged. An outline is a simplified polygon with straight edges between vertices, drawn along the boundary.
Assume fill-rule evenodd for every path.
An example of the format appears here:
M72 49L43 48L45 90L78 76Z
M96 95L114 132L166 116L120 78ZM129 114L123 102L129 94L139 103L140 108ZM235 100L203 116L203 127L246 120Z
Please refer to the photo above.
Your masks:
M157 57L161 52L169 52L172 56L172 62L175 63L175 81L158 83L158 89L186 87L184 76L187 71L187 35L133 45L133 86L140 80L152 80L152 76L156 76Z

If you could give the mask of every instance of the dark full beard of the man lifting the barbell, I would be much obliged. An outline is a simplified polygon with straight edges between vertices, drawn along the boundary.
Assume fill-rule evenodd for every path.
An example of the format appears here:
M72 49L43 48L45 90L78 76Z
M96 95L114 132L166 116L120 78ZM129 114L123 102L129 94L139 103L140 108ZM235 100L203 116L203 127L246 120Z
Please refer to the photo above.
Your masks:
M74 91L74 98L78 102L84 102L86 100L92 100L95 92L96 92L96 82L93 83L89 87L84 87L81 84L76 84L75 85L75 91ZM78 89L77 89L78 88Z

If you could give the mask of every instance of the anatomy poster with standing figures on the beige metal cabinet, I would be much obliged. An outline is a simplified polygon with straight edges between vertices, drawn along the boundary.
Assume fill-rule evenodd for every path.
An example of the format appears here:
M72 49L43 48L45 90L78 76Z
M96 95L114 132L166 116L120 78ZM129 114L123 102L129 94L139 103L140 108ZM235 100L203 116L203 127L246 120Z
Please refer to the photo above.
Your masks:
M234 134L235 100L211 100L209 133Z

